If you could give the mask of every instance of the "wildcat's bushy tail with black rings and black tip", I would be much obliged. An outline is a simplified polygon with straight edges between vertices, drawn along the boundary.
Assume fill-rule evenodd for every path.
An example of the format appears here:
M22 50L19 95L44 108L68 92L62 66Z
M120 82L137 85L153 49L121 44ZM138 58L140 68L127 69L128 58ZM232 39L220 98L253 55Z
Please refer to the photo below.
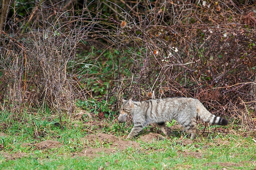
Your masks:
M199 102L200 103L200 102ZM202 103L197 105L197 114L205 122L212 125L228 125L228 120L211 114Z

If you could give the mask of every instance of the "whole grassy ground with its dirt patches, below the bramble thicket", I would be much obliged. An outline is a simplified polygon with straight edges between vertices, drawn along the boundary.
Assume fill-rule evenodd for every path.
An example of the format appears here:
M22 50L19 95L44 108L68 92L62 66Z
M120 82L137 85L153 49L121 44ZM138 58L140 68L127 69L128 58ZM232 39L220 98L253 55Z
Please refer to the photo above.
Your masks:
M202 126L190 140L180 125L164 136L155 125L127 139L132 124L31 117L9 127L2 120L0 169L255 169L256 133L239 125ZM68 125L68 124L66 124Z

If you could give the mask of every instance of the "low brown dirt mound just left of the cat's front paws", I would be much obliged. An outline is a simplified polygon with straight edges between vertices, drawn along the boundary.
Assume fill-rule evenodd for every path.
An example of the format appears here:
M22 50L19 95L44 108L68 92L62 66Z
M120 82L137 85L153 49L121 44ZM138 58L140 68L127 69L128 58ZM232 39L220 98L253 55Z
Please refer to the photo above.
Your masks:
M86 144L94 144L94 143L97 143L97 142L100 142L100 143L111 143L111 142L115 142L115 141L118 141L118 138L114 135L108 135L108 134L105 134L105 133L99 133L97 135L87 135L83 138L80 139L83 143L86 143Z

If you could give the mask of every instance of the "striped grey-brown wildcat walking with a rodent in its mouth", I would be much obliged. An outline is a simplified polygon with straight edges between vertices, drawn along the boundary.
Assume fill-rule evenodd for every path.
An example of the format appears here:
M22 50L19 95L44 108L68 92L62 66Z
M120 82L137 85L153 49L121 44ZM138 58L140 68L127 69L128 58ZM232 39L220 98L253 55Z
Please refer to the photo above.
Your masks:
M173 119L191 134L191 139L197 136L197 117L212 125L228 125L228 120L211 114L199 100L186 97L144 102L123 100L118 122L125 122L128 115L133 115L134 127L127 138L137 135L148 124L158 124L161 131L167 135L165 122Z

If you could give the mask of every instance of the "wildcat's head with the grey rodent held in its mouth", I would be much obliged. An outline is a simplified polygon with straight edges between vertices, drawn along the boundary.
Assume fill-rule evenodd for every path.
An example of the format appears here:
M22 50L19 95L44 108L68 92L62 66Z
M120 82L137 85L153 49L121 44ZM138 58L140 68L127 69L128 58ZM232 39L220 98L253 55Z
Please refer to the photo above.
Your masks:
M126 117L132 113L133 101L132 99L124 100L120 109L120 115L118 116L118 122L123 123L126 121Z

